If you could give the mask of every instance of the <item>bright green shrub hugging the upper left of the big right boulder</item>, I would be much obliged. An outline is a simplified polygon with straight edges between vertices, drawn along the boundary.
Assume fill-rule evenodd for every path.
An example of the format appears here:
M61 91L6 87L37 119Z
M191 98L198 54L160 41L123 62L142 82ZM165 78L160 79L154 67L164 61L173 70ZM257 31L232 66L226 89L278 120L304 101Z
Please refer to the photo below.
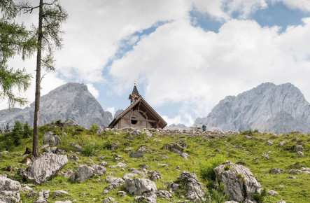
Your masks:
M225 162L227 160L227 157L223 155L218 155L216 157L210 158L205 163L201 163L199 165L199 175L202 176L202 179L204 180L216 180L216 174L214 172L214 169Z

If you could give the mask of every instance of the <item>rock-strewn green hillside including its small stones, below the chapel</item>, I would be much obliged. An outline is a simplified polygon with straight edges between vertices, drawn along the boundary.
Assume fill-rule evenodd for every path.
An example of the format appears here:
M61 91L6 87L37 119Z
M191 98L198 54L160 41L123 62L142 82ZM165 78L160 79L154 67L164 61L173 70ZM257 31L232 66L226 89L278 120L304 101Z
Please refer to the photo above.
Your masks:
M59 137L61 143L57 146L52 144L52 147L43 146L40 152L66 155L68 160L64 168L41 185L18 176L20 169L28 167L22 160L29 158L31 162L34 161L31 155L23 155L24 149L31 147L32 143L31 138L27 138L22 139L20 145L9 148L8 153L1 153L0 174L18 181L22 188L27 188L20 190L22 202L34 202L41 190L50 190L48 197L43 195L49 202L102 202L107 201L108 197L113 197L117 202L134 202L141 195L131 195L132 192L127 190L126 180L129 179L130 182L135 177L152 181L153 185L149 186L153 189L156 187L158 191L170 191L156 193L157 202L184 201L190 198L187 195L190 186L181 181L186 176L194 179L197 176L201 185L195 186L200 188L200 193L197 188L195 191L199 195L205 195L204 198L208 200L208 197L211 198L216 193L212 190L216 186L215 179L212 178L213 169L225 160L230 160L238 167L248 168L264 191L274 190L277 193L265 195L262 192L261 196L255 196L255 200L310 201L309 134L241 132L218 136L211 132L196 134L195 131L185 131L188 135L184 135L181 130L169 131L171 133L168 134L168 131L159 130L102 129L95 125L90 130L67 126L62 131L55 124L44 125L40 127L39 146L43 146L46 134ZM10 136L12 135L0 136L0 152L8 147L6 141ZM176 148L173 149L173 146ZM82 168L90 170L90 176L85 176L85 180L79 182L78 179L82 178L78 176L78 170ZM225 166L225 172L233 170L234 167ZM75 177L72 178L73 174ZM240 176L241 181L243 175L237 176ZM181 188L169 189L175 187L175 184L181 184ZM64 192L55 193L56 190ZM46 193L48 192L42 191L41 194ZM166 199L162 199L163 197Z

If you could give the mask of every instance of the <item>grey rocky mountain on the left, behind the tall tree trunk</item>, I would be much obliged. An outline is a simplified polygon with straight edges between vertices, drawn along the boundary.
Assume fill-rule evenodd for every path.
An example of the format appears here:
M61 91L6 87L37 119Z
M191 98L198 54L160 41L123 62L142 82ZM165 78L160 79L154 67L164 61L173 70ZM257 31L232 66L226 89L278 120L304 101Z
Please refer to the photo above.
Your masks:
M66 83L41 97L39 125L52 121L65 121L71 118L83 127L90 127L92 123L106 127L112 121L112 114L104 111L97 99L87 90L87 86L80 83ZM34 102L24 109L4 109L0 111L0 127L6 123L14 125L15 120L33 125Z

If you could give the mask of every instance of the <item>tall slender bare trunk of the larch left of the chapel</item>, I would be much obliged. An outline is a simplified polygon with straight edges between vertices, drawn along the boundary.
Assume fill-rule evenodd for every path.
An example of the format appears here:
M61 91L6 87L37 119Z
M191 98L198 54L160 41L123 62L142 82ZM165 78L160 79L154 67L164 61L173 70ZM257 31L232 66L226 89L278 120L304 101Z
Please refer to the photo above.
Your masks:
M40 0L38 12L38 49L36 55L36 96L34 99L34 139L32 144L32 155L38 157L38 115L40 112L41 96L41 54L42 54L42 20L43 20L43 0Z

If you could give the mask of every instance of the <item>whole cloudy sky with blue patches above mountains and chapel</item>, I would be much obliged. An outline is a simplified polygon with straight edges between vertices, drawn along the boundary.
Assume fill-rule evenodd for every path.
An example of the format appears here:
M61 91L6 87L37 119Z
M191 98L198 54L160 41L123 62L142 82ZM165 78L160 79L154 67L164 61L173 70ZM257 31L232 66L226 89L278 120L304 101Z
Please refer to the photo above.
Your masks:
M63 48L55 52L56 70L43 71L41 95L64 83L84 83L114 113L129 106L136 80L169 125L188 126L226 96L261 83L293 83L310 101L310 0L60 3L69 14ZM18 20L31 26L37 18ZM35 55L25 62L16 56L10 65L33 74L20 95L34 102ZM0 109L6 108L1 101Z

